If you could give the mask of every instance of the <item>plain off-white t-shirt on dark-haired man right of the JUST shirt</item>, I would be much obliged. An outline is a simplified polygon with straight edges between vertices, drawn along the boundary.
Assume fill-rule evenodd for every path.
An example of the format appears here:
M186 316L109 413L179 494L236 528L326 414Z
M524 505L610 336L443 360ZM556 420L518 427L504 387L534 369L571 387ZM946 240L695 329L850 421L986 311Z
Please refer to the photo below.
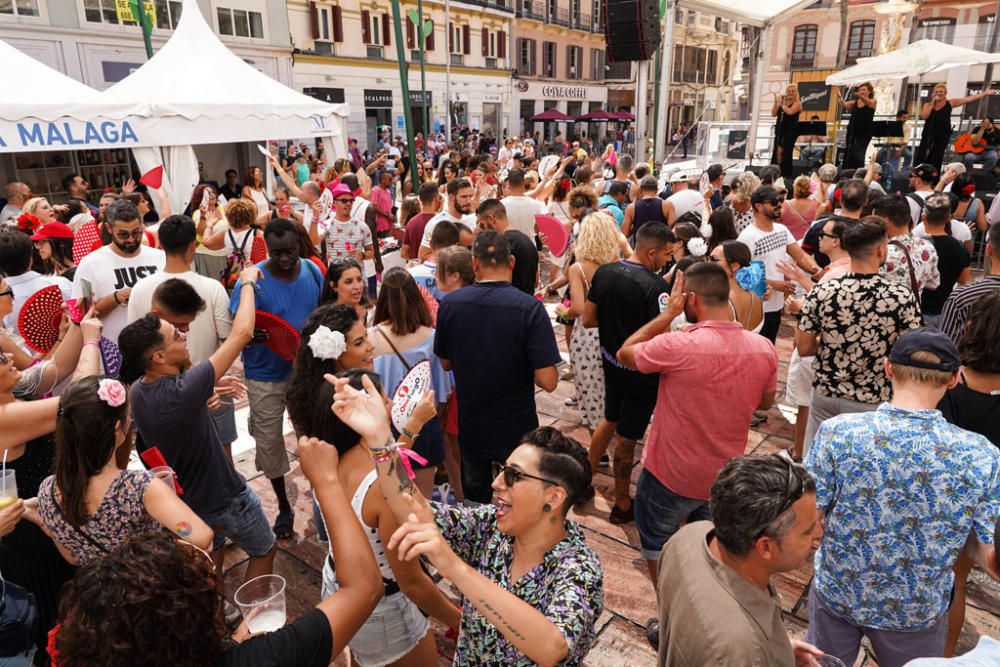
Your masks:
M249 249L247 249L249 253ZM135 322L153 307L153 292L164 281L178 278L191 285L205 301L205 310L198 313L191 322L187 335L191 362L200 363L208 359L219 348L219 342L229 337L233 330L233 316L229 314L229 295L218 280L213 280L194 271L184 273L164 273L158 271L146 276L132 288L128 300L128 321Z

